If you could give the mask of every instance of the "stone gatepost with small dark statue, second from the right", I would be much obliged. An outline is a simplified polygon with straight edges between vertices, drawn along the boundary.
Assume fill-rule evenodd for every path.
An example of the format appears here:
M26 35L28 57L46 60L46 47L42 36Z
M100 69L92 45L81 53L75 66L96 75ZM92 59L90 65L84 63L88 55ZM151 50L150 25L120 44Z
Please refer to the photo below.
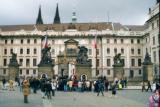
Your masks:
M114 57L113 64L113 78L117 78L118 80L123 79L124 77L124 64L121 60L121 54L117 54Z

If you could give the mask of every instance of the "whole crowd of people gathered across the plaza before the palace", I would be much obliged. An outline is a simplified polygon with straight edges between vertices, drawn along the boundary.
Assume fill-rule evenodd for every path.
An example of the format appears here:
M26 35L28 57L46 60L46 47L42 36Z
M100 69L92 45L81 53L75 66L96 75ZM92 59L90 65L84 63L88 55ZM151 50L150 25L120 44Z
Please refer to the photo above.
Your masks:
M6 84L9 84L7 87ZM16 83L16 84L15 84ZM55 96L55 91L64 91L64 92L95 92L97 96L101 93L104 96L104 91L111 91L112 95L115 96L118 89L123 89L127 87L127 80L114 79L110 82L105 77L99 77L97 80L78 80L74 78L58 78L58 79L49 79L46 77L38 78L16 78L15 82L13 80L2 79L2 89L9 91L14 91L14 86L19 86L20 91L24 95L24 103L28 103L28 95L32 93L37 93L37 90L41 91L42 98L52 99ZM147 87L146 87L147 86ZM150 81L142 82L142 92L151 91L153 94L149 98L148 107L159 107L160 103L160 90L159 85L155 82L151 83Z

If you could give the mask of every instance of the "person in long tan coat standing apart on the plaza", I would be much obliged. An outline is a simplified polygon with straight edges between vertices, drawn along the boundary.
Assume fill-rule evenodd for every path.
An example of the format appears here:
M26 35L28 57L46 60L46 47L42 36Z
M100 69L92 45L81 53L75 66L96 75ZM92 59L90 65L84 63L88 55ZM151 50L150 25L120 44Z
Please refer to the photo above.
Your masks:
M29 95L29 81L23 81L23 95L24 95L24 103L28 103L28 95Z

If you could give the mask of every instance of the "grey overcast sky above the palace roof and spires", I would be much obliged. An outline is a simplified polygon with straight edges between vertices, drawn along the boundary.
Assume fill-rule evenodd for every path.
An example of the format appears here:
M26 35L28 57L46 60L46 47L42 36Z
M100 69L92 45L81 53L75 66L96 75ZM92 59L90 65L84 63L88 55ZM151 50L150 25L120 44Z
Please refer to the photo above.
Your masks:
M0 0L0 25L35 24L39 5L44 23L53 23L57 2L63 23L71 22L75 10L78 22L141 25L156 0Z

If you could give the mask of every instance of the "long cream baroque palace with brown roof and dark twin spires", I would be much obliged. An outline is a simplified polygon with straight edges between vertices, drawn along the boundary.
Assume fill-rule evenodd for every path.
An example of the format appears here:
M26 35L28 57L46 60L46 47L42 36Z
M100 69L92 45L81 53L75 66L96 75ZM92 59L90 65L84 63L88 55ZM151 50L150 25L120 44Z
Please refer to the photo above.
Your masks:
M70 39L88 49L93 78L98 76L113 78L113 58L118 53L121 53L124 76L128 79L142 78L142 62L146 52L149 52L154 63L154 74L158 75L158 6L157 3L153 9L149 9L150 17L144 25L122 25L114 22L78 23L75 12L72 23L61 23L58 4L54 23L44 24L40 7L36 24L0 26L0 77L8 75L12 52L17 54L20 64L19 76L38 76L37 65L41 60L41 39L44 35L48 36L56 75L60 75L57 56L65 55L65 42ZM97 36L97 59L94 48L95 36ZM68 66L70 76L74 63L68 63Z

